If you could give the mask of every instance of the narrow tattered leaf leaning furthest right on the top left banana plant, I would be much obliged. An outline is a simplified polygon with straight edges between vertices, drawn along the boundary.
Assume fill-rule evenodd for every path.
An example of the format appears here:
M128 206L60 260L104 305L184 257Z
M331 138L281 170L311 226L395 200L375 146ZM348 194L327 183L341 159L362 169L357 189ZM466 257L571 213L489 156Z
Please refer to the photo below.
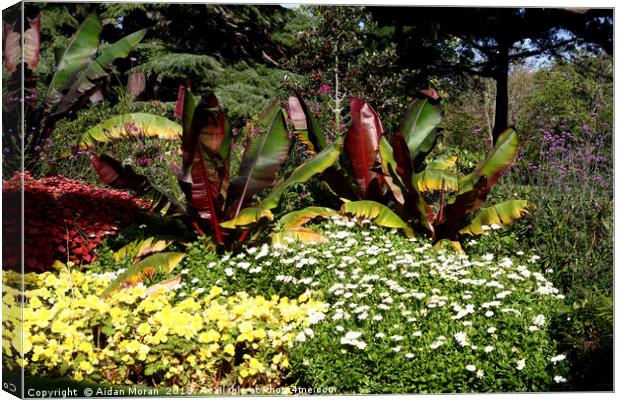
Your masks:
M125 36L119 41L109 45L99 54L99 56L83 70L75 82L71 85L69 92L63 96L62 101L54 114L62 114L80 98L92 90L97 85L97 80L108 75L108 70L117 58L125 58L129 52L144 38L146 29L134 32Z

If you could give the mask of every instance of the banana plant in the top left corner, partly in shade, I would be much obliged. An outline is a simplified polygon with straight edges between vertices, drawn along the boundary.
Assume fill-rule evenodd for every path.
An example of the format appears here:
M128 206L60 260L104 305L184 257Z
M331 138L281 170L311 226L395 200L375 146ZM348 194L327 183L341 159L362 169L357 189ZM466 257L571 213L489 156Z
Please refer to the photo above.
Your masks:
M36 168L38 153L44 139L49 138L56 122L75 109L82 101L89 98L109 77L114 61L129 55L131 50L142 40L146 30L134 32L119 41L100 48L100 34L103 30L101 21L95 14L86 17L65 49L56 52L54 75L45 93L37 92L35 69L40 59L41 16L36 13L27 18L28 29L23 38L19 33L17 22L4 23L3 64L9 72L5 85L8 95L3 111L7 115L21 115L18 101L23 85L25 92L24 119L26 121L24 160L26 169ZM23 39L23 40L22 40ZM23 49L21 43L23 42ZM21 66L20 66L21 65ZM24 79L22 81L22 71ZM4 132L21 131L18 118L9 118L3 124ZM7 137L8 146L20 145ZM15 143L14 143L15 142ZM15 152L20 154L20 152ZM15 166L7 165L9 168Z

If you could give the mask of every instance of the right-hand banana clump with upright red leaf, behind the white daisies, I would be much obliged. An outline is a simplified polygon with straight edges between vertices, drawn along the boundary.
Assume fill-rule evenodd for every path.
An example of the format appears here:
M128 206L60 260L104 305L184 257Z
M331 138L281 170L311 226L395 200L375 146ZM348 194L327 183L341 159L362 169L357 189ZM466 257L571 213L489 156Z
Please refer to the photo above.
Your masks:
M507 224L522 217L529 204L514 200L484 210L480 218L469 223L500 175L514 163L518 137L514 129L506 130L471 174L458 176L450 170L455 157L426 160L441 134L440 102L434 90L416 93L399 130L390 138L368 103L351 100L346 154L340 160L350 165L351 172L335 164L322 174L323 179L343 198L370 198L389 205L416 231L434 241L456 241L463 235L476 234L484 221ZM324 136L301 96L289 99L289 104L293 104L290 112L299 135L307 137L311 149L320 149ZM348 186L351 181L353 185ZM439 193L438 205L433 207L427 192Z

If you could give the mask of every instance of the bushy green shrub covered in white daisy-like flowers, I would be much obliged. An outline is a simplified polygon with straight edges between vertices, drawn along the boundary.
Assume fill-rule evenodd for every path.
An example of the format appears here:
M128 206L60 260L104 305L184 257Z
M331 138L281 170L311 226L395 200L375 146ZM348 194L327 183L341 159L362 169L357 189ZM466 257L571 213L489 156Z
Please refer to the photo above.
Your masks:
M310 289L331 305L312 335L297 337L292 381L338 393L562 387L564 357L552 361L549 327L563 296L536 271L537 256L436 253L424 239L364 221L313 229L329 242L264 245L203 263L208 250L192 245L185 260L188 279L202 286L266 296Z

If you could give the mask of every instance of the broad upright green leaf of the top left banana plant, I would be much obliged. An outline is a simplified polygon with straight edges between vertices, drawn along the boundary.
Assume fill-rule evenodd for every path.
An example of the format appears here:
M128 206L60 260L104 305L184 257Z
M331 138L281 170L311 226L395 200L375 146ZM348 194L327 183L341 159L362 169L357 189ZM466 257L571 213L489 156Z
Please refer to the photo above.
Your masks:
M101 21L96 14L90 14L73 35L65 49L56 73L52 78L46 95L48 103L57 103L64 92L76 79L79 72L86 67L97 54L99 35L102 30Z

